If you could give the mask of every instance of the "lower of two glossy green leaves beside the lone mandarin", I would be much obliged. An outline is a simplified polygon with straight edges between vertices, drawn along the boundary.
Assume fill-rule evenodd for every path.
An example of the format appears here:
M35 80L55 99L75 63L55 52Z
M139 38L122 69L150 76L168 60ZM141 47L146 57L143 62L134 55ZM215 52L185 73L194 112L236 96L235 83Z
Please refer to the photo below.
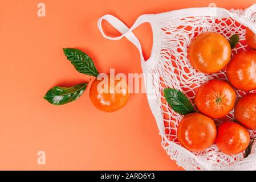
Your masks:
M53 105L67 104L68 102L75 101L82 96L87 85L88 83L79 84L70 88L55 86L48 90L43 98Z

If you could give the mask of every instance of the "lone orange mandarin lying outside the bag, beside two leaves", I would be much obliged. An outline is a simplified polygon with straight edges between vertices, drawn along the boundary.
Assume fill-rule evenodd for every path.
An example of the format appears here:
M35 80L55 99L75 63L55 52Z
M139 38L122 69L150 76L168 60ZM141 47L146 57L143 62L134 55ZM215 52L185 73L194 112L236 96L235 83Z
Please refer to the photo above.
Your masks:
M113 112L121 109L127 104L129 98L129 88L127 82L111 79L107 75L105 80L94 80L90 88L90 99L94 106L105 112Z

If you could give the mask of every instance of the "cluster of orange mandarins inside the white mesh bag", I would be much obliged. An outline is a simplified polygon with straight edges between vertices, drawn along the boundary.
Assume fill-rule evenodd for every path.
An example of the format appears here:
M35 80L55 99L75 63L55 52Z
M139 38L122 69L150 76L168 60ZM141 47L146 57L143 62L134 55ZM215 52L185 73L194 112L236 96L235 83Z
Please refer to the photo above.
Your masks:
M185 115L178 125L177 138L190 151L203 151L214 142L227 155L239 154L250 143L248 130L256 130L256 93L248 93L235 104L235 89L256 89L256 35L246 29L246 42L251 50L230 60L231 47L221 34L205 32L192 40L188 58L203 73L220 72L227 65L229 83L210 80L197 90L195 104L200 113ZM218 128L213 118L222 118L234 109L237 122L228 121Z

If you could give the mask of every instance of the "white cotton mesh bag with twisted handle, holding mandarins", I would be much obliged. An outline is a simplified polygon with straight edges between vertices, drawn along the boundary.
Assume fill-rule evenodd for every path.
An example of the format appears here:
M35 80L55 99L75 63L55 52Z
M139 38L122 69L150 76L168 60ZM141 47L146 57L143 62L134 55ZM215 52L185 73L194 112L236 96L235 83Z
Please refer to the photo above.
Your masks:
M102 20L115 27L121 36L113 38L105 35L101 27ZM151 57L147 61L144 60L139 40L132 32L145 22L151 24L153 31L153 47ZM240 41L232 50L232 56L234 53L248 49L245 42L245 28L249 27L256 33L256 4L246 10L204 7L141 15L131 28L112 15L104 15L99 19L98 27L104 38L119 40L125 37L139 49L148 102L160 130L162 147L170 159L176 160L178 166L186 170L256 169L256 142L247 158L243 158L243 153L225 155L215 144L202 152L190 152L182 147L176 136L182 115L170 108L163 94L165 88L174 88L186 94L194 103L195 90L204 82L212 78L227 80L225 70L212 75L196 71L187 58L188 46L198 34L212 31L224 35L226 39L233 34L239 34ZM236 90L236 93L238 98L246 94L241 90ZM216 119L215 122L218 125L233 117L231 111L227 117ZM250 134L253 138L256 136L256 131L250 131Z

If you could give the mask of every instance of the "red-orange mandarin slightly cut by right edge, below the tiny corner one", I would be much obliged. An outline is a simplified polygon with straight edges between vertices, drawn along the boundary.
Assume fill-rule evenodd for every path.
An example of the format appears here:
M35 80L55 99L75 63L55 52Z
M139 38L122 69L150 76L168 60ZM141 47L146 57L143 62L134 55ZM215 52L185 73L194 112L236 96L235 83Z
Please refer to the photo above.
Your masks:
M236 89L256 89L256 51L247 50L235 55L227 65L226 74Z

